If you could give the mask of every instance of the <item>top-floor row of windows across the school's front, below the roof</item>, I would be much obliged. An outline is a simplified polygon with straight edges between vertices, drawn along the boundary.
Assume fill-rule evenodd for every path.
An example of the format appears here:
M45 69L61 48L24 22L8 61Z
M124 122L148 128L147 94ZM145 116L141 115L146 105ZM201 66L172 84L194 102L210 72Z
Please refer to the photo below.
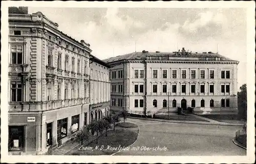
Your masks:
M209 78L214 78L215 71L209 71ZM144 70L134 70L134 78L144 78ZM152 78L158 78L158 70L152 71ZM162 77L167 78L167 70L162 70ZM177 78L177 70L172 70L172 78ZM181 78L186 77L186 70L181 70ZM196 78L196 70L190 70L190 78ZM205 78L205 70L200 70L200 78ZM230 71L221 71L221 78L230 78Z

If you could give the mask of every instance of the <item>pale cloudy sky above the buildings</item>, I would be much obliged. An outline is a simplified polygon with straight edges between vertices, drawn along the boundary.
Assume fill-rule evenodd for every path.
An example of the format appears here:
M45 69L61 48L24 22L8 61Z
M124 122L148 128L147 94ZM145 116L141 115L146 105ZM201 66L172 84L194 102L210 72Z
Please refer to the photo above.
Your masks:
M38 8L58 30L91 45L103 60L136 51L212 51L239 61L238 88L246 83L246 9Z

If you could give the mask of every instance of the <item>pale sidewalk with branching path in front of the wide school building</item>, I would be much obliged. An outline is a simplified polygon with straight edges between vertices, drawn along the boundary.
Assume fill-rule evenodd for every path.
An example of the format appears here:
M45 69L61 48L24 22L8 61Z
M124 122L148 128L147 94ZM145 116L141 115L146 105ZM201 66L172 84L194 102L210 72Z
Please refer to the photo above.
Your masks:
M187 114L190 115L190 114ZM159 122L170 122L170 123L186 123L186 124L202 124L202 125L226 125L226 126L243 126L243 124L233 124L233 123L225 123L225 122L219 122L216 120L208 119L205 117L201 117L198 115L194 115L195 117L198 117L200 119L206 120L207 122L204 121L179 121L179 120L164 120L164 119L153 119L153 118L147 118L146 120L150 121L159 121ZM145 118L140 118L140 117L128 117L131 119L139 119L139 120L145 120Z

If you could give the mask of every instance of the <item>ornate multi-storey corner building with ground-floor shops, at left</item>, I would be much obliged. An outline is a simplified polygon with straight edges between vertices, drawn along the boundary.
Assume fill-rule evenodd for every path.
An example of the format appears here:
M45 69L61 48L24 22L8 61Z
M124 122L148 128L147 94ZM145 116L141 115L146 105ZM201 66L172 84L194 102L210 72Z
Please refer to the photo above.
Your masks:
M42 154L89 123L90 44L9 8L9 153Z

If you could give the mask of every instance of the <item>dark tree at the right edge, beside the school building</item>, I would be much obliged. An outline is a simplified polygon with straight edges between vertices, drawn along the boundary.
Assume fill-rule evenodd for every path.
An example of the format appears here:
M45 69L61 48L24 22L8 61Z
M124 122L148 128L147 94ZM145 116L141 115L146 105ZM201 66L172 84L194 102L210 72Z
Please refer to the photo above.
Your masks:
M247 87L243 84L238 92L238 116L239 119L247 119Z

